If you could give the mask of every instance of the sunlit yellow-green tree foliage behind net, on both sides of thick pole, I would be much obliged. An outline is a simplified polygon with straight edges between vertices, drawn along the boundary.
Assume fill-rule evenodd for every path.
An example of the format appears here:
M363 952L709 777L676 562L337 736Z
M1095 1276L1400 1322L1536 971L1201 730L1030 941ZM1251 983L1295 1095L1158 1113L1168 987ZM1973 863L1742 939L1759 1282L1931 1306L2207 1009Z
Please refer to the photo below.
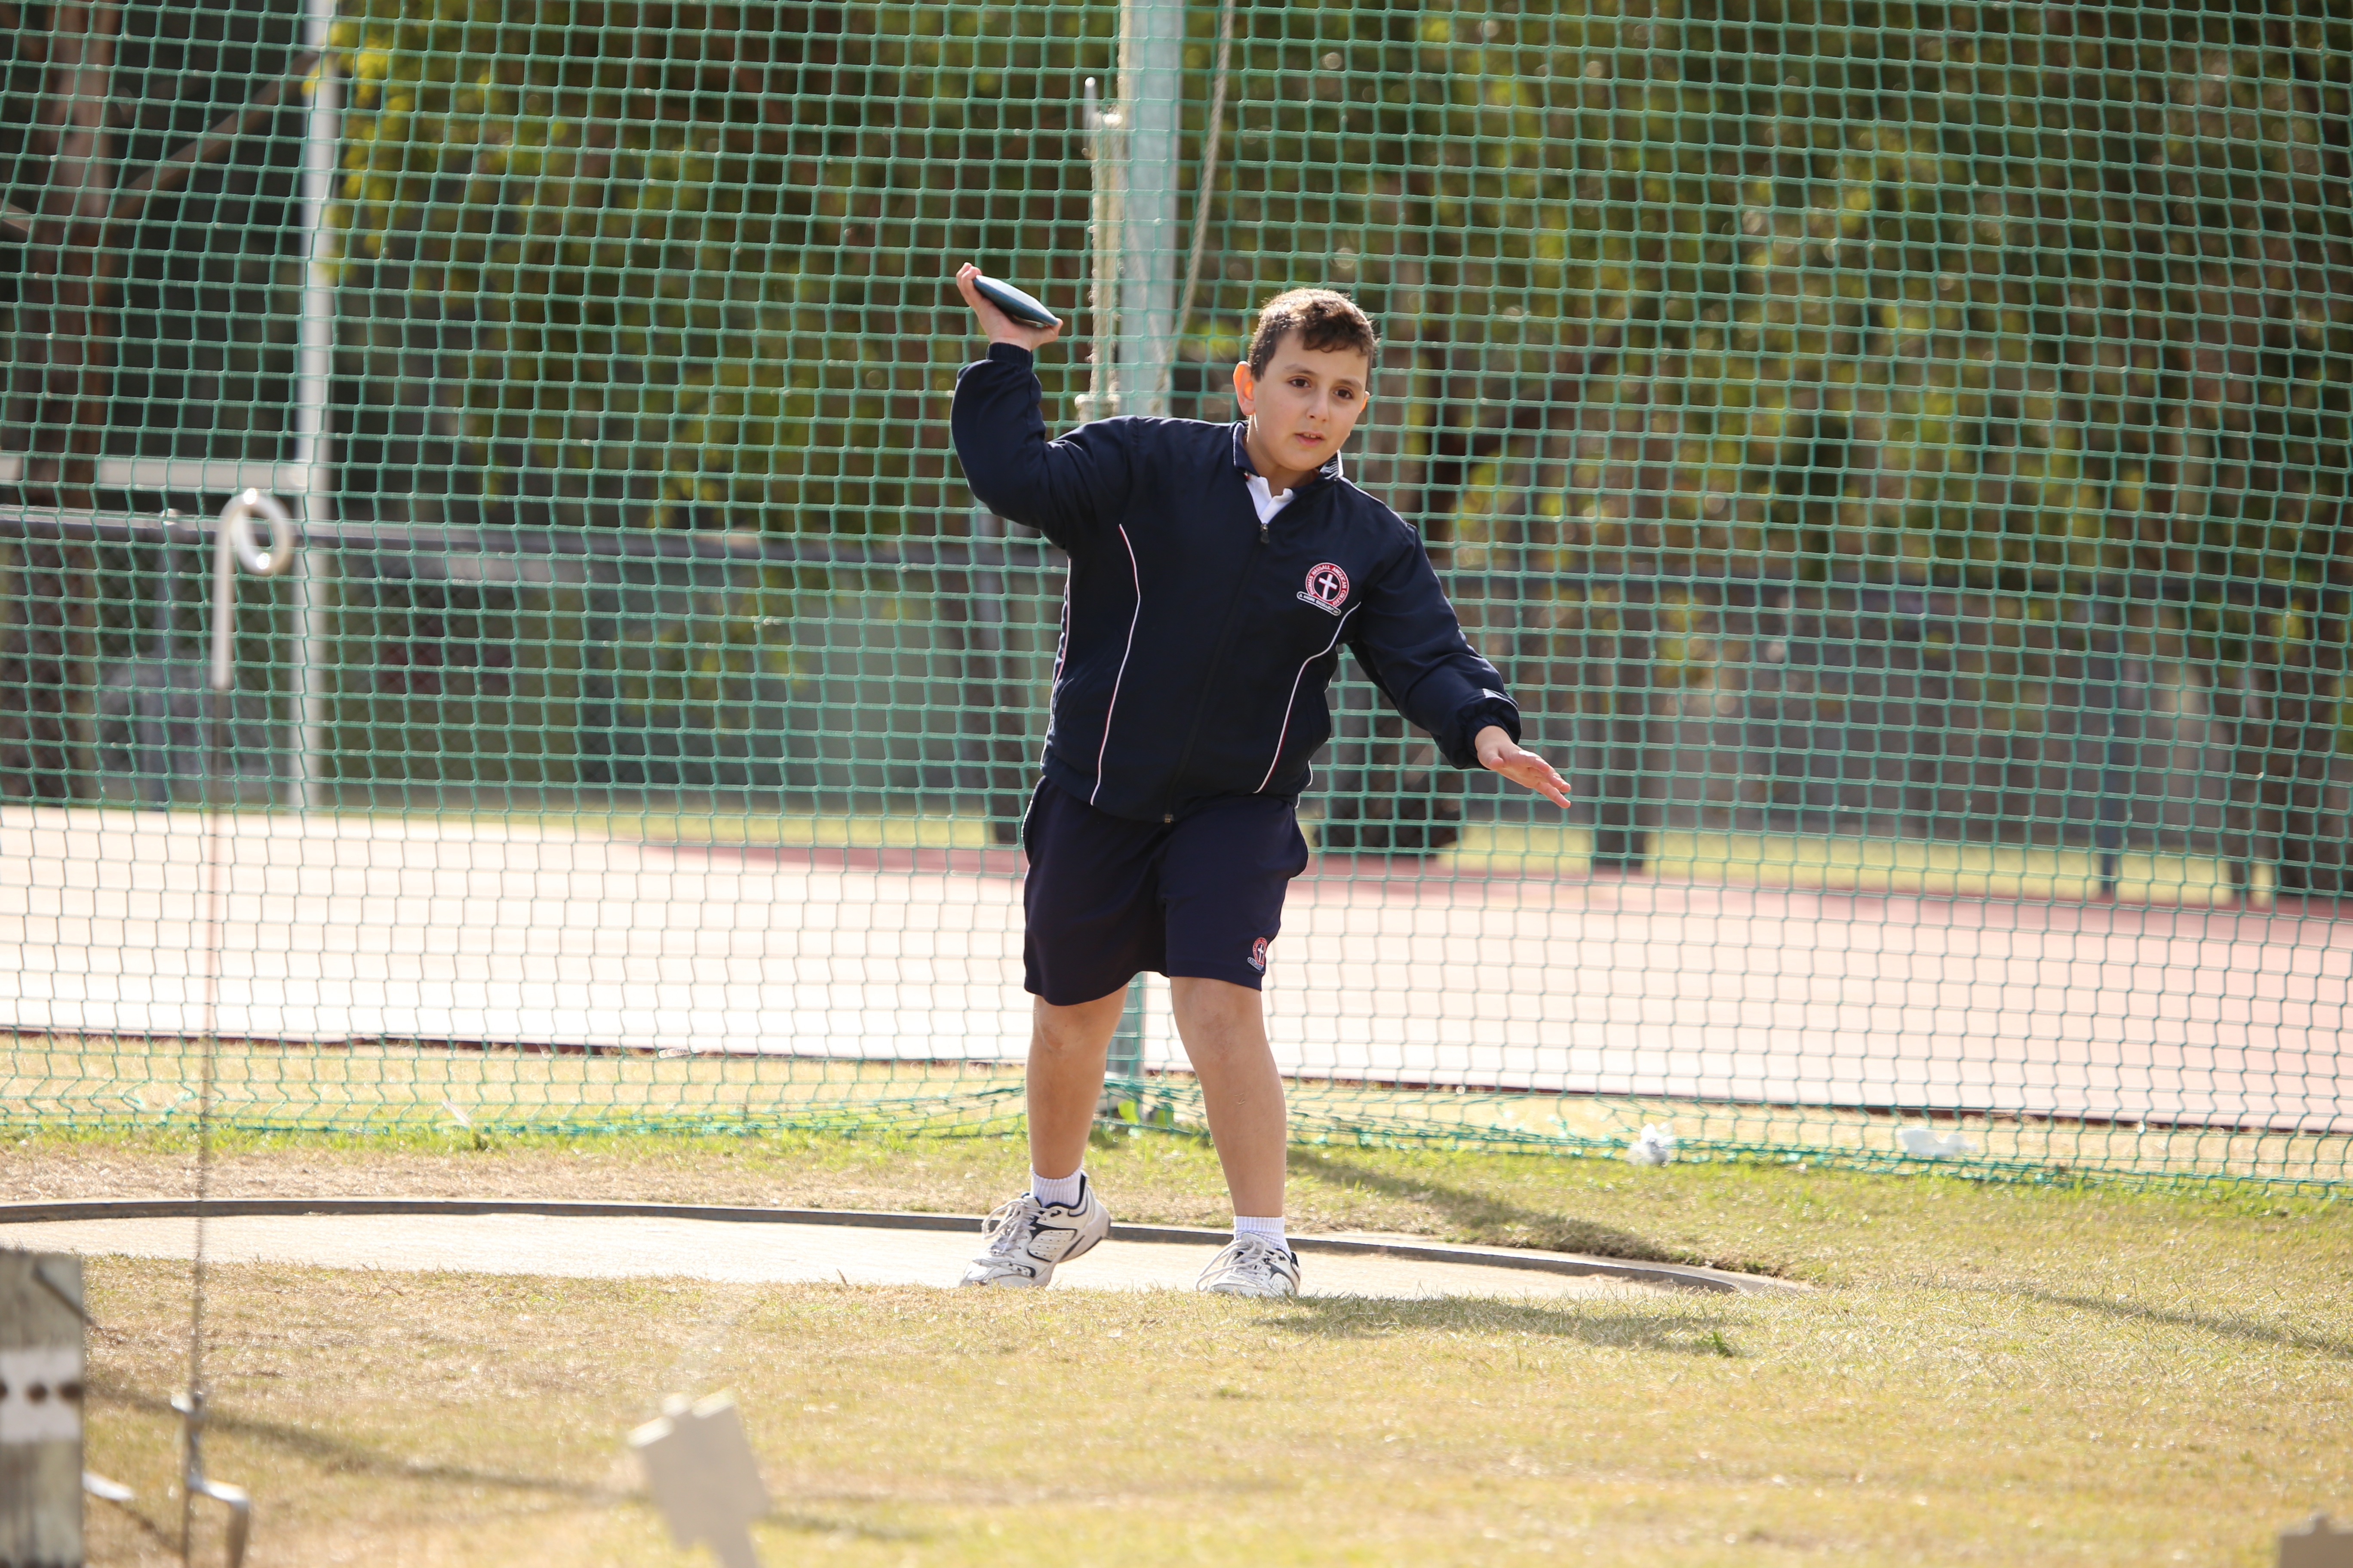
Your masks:
M1075 303L1071 103L1113 9L372 0L339 33L348 277L405 292L388 334L456 329L433 393L487 496L906 527L955 505L948 263ZM1214 7L1188 24L1193 174ZM1353 284L1395 456L1534 463L1544 543L2313 576L2348 26L1245 9L1184 353L1233 357L1278 284Z

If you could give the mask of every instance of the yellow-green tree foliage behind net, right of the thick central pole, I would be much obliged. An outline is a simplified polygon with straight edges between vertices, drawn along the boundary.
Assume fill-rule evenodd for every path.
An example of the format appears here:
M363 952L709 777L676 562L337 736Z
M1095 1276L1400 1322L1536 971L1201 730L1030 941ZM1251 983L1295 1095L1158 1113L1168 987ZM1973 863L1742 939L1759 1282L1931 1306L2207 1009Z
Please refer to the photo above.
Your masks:
M1581 545L2320 574L2348 24L1751 16L1285 14L1245 49L1228 334L1322 256L1409 343L1419 451L1548 463Z

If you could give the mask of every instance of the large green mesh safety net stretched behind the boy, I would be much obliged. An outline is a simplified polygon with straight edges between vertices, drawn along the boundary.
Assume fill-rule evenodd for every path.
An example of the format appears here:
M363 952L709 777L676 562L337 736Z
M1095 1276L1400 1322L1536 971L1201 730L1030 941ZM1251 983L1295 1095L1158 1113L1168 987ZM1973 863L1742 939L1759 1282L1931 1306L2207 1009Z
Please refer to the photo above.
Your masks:
M974 259L1071 322L1056 428L1231 418L1252 310L1351 289L1351 473L1572 776L1334 689L1301 1135L2346 1175L2334 12L174 0L12 49L9 1124L172 1124L216 1032L247 1126L1012 1126L1061 569L948 449ZM212 705L245 487L304 550ZM1158 978L1106 1114L1198 1119Z

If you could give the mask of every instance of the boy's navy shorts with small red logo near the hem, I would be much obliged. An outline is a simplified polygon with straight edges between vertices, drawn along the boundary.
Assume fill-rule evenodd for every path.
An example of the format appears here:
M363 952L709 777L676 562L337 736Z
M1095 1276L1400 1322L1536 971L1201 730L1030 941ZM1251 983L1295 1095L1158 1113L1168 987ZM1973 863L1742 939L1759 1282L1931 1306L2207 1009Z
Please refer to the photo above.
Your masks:
M1146 969L1259 990L1282 891L1308 867L1299 811L1275 795L1132 823L1040 780L1021 846L1021 966L1054 1006L1108 997Z

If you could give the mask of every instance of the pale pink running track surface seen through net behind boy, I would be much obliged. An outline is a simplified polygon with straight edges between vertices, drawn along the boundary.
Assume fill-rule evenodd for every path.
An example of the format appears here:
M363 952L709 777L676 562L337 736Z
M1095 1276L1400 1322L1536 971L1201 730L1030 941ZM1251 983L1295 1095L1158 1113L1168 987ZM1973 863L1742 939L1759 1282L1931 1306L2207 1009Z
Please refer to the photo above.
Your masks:
M0 813L0 1025L200 1027L202 820ZM1009 853L231 818L221 1032L1016 1058ZM1308 1077L2353 1131L2353 922L1325 863L1268 976ZM1146 1060L1181 1060L1165 1009Z

